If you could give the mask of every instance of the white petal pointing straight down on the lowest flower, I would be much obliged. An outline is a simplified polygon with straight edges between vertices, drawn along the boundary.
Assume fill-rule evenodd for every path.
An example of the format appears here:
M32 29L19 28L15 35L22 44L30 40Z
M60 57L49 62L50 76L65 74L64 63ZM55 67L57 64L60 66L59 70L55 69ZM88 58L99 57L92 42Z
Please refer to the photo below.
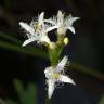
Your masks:
M48 80L48 96L49 96L49 99L51 99L54 88L55 88L55 80L49 79Z

